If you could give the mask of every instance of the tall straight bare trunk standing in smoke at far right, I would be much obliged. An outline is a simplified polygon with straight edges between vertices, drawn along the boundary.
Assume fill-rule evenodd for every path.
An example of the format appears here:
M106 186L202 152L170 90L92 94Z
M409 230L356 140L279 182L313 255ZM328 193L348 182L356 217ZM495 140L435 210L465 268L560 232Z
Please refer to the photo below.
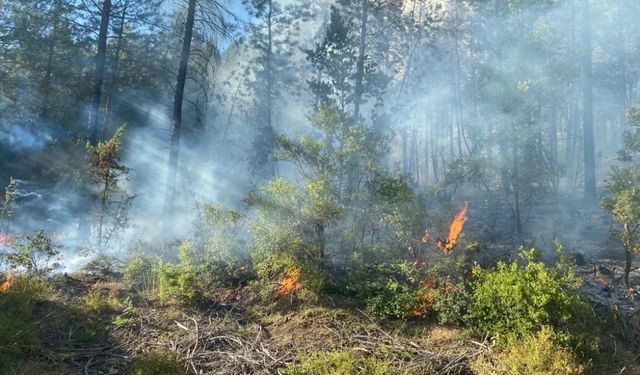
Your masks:
M584 196L596 200L596 158L593 141L593 58L589 0L582 2L582 131L584 137Z

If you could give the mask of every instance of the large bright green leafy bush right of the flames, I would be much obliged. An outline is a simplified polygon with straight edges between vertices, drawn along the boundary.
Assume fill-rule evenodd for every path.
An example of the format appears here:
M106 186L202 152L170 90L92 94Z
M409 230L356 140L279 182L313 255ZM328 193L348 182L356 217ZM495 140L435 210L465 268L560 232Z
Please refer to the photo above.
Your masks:
M559 342L592 349L595 320L577 294L575 273L547 268L535 260L535 250L524 251L523 260L524 265L500 262L495 270L474 269L473 303L465 317L469 330L504 345L550 326Z

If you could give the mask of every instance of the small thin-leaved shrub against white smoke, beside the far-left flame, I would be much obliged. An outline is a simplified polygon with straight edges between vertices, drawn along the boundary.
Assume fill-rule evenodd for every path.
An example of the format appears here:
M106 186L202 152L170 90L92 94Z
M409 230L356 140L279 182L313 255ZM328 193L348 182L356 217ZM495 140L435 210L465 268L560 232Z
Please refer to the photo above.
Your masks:
M9 266L29 274L46 275L59 265L55 262L61 246L44 231L25 234L16 239L7 254Z

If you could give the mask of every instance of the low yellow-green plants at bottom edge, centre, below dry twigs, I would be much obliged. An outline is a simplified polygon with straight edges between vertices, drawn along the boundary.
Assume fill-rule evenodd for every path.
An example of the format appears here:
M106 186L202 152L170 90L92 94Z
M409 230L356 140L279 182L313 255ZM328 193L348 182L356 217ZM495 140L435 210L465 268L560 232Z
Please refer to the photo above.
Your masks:
M383 375L390 364L374 357L363 357L352 350L318 352L298 358L284 369L287 375Z

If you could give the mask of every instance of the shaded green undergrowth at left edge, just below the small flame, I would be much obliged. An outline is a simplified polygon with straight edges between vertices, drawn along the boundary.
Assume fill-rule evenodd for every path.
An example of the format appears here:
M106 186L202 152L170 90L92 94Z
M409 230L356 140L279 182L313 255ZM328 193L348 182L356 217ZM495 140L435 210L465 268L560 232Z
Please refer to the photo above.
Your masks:
M41 346L34 326L34 309L52 290L44 278L15 276L11 288L0 293L0 370L3 364L33 354Z

